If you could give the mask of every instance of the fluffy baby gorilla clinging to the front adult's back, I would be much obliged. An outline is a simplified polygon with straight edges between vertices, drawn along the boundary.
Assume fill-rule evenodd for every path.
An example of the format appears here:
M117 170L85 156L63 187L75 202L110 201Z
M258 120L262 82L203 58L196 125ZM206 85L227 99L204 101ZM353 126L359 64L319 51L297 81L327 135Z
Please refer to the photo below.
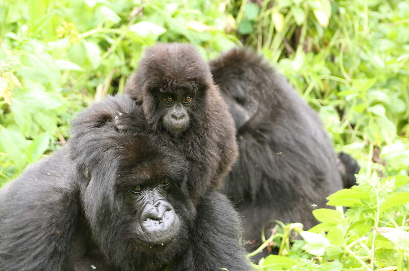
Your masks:
M220 187L237 158L235 127L208 64L196 50L181 43L148 48L126 92L142 112L120 111L117 128L132 130L135 116L142 114L149 129L162 134L189 162L192 196Z

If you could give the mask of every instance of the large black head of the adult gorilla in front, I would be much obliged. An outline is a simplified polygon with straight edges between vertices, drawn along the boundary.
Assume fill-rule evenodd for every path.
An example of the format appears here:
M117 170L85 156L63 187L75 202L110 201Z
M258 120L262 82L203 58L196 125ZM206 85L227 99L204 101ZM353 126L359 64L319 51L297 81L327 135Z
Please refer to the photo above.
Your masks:
M184 189L187 162L152 135L100 129L71 139L73 152L82 149L74 159L86 169L78 178L85 220L117 266L165 264L180 252L196 215Z

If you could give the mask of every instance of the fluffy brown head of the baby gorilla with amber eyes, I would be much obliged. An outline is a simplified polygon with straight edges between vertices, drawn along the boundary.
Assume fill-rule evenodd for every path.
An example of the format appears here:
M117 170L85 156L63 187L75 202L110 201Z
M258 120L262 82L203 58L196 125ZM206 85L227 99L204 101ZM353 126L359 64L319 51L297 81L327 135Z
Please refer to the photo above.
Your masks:
M127 92L139 102L153 127L174 136L200 122L208 89L214 87L208 64L193 46L160 43L146 50Z

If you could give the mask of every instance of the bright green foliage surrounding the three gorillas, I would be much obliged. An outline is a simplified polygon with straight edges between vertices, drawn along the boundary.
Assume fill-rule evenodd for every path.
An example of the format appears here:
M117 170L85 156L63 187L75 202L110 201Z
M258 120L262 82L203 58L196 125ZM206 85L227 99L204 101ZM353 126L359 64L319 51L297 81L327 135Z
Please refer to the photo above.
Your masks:
M0 186L63 145L76 112L121 93L143 50L156 41L190 42L207 60L235 46L254 48L319 111L335 148L365 167L359 187L370 194L354 191L361 195L355 209L345 201L339 205L351 207L349 225L366 219L375 224L357 225L360 237L343 244L335 240L341 248L331 257L305 247L308 239L320 238L303 236L283 246L276 256L283 258L270 257L255 268L366 270L374 268L376 254L383 255L376 258L379 268L408 268L407 250L390 239L378 235L385 251L372 249L371 223L407 229L407 179L382 183L377 176L409 170L409 1L3 0ZM381 213L379 203L394 197L398 204ZM333 218L326 215L319 220ZM286 227L281 231L290 231ZM344 228L331 236L347 238L351 232ZM333 240L322 236L331 246ZM291 255L312 260L293 261Z

